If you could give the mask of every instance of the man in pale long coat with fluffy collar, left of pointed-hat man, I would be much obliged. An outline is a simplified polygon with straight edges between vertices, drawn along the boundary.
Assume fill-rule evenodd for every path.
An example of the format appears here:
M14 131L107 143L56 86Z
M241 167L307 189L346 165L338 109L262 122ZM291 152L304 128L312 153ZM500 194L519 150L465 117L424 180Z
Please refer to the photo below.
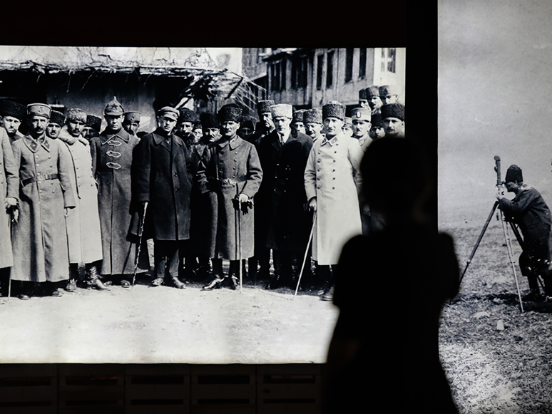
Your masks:
M97 262L102 259L98 187L92 176L92 160L88 140L81 136L86 125L86 112L73 108L67 111L66 127L58 140L70 160L69 178L76 194L75 209L66 218L69 247L70 279L66 291L76 290L78 264L84 264L88 283L98 290L108 290L98 277Z

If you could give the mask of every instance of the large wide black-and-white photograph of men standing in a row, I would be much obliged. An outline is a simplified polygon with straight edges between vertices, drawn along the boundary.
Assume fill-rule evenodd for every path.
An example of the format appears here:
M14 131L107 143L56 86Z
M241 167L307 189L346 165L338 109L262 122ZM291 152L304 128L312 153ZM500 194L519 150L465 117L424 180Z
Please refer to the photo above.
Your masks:
M362 157L405 68L388 47L0 46L0 363L324 363L332 266L366 229L312 202L310 150L339 133Z

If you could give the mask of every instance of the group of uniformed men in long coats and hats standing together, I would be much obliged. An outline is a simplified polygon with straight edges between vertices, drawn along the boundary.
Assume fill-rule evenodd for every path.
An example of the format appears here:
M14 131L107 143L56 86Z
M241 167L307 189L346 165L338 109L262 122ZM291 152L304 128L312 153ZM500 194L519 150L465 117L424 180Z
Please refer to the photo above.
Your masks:
M359 92L352 132L337 101L294 112L262 100L258 123L237 104L199 121L165 106L151 133L116 98L103 130L79 108L0 101L0 283L20 281L21 299L129 287L153 250L151 286L185 289L185 276L208 281L205 290L236 289L248 259L248 276L267 289L295 289L300 274L312 277L312 255L312 280L326 282L321 298L331 300L343 244L377 228L359 200L363 150L379 125L404 136L404 105L372 105L363 97L376 89Z

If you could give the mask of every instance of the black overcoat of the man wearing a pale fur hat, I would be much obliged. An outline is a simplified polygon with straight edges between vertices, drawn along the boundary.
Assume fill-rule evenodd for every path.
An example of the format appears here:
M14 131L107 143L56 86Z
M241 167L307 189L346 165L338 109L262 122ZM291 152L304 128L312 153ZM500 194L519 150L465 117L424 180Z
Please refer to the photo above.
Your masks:
M312 138L298 133L284 145L276 131L257 145L262 167L262 182L255 195L257 235L266 234L265 247L289 252L305 252L312 224L307 211L305 166L312 148Z

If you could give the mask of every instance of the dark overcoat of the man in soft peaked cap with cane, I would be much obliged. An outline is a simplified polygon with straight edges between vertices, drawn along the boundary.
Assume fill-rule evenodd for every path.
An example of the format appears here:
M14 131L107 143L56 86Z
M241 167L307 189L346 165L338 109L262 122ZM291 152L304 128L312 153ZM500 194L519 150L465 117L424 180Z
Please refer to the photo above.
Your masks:
M192 182L188 149L178 135L164 137L156 130L142 137L133 162L133 186L136 201L148 202L144 237L190 238Z

